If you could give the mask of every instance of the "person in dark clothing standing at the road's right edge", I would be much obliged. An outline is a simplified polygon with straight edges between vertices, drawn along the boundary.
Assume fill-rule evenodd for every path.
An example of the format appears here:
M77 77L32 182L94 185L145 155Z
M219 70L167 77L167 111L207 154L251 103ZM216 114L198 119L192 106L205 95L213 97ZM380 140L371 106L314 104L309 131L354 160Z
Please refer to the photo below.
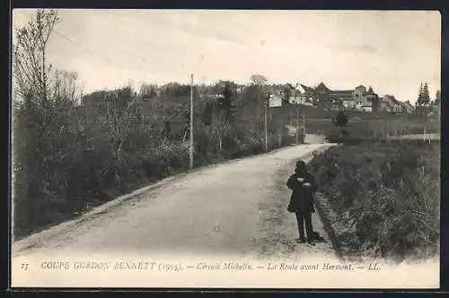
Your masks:
M295 239L295 241L300 243L305 242L305 225L307 242L314 245L312 214L315 212L315 208L313 206L313 192L318 187L313 175L307 171L305 162L296 162L295 173L288 178L286 186L293 190L287 211L295 213L298 222L299 238Z

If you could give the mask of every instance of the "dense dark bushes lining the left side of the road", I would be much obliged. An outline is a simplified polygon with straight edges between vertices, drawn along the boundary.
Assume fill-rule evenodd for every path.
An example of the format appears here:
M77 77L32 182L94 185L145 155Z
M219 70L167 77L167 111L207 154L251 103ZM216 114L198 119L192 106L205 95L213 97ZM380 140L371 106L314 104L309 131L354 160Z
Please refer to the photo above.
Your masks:
M56 98L48 105L31 99L15 107L14 237L189 169L189 88L169 87L163 97L143 99L125 87L88 94L82 105ZM253 95L244 93L244 99L233 99L235 107L227 106L234 110L232 120L217 112L222 107L210 109L214 103L207 107L196 97L195 167L265 151ZM295 142L286 127L278 129L284 119L273 112L269 149ZM277 134L283 136L280 144Z

